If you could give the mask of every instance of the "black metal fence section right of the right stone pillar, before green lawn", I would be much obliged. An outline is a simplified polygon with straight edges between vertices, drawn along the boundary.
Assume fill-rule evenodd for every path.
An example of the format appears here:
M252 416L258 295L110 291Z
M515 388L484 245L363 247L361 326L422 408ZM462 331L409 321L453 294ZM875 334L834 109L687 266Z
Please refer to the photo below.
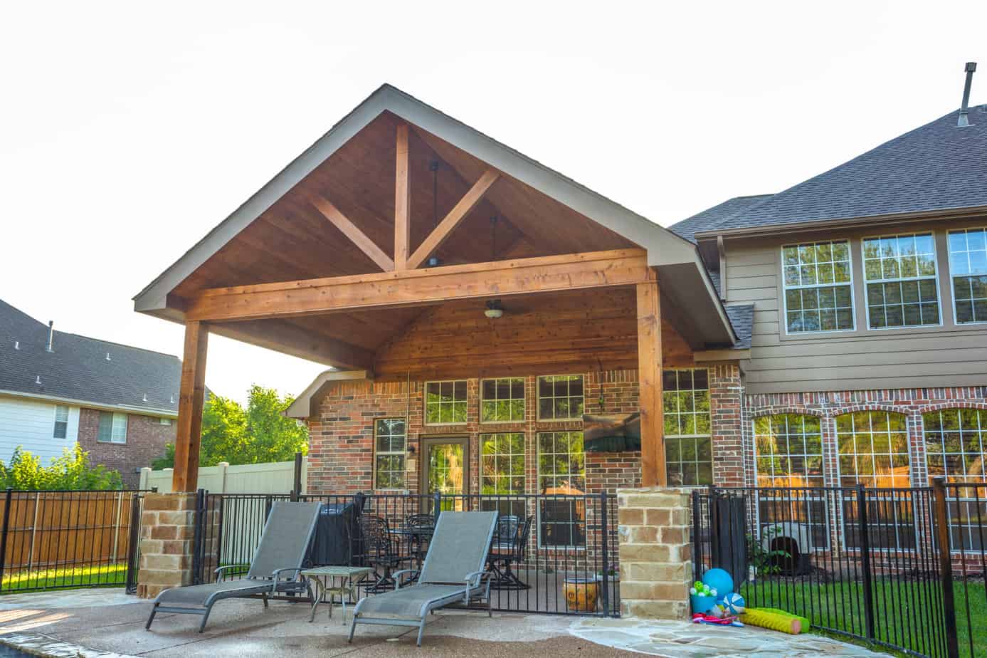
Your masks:
M985 491L941 481L697 490L695 578L724 568L748 607L905 653L987 656Z

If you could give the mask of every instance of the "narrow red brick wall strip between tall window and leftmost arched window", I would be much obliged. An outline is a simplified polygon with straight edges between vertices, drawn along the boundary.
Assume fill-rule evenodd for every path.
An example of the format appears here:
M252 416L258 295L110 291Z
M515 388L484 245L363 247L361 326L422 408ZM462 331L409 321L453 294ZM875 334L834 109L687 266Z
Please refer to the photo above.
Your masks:
M710 368L710 415L713 423L713 483L744 485L743 383L736 364Z

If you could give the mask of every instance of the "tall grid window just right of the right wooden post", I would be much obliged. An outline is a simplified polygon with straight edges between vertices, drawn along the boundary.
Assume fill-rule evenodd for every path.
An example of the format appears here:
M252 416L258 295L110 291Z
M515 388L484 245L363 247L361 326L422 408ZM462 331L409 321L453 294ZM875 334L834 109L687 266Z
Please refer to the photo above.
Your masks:
M664 370L665 466L669 484L711 484L709 370Z

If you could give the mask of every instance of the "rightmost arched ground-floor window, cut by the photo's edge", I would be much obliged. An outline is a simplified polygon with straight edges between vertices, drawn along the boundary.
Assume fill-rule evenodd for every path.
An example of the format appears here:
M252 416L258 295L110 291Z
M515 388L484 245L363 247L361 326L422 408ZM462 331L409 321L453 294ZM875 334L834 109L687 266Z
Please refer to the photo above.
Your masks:
M987 480L987 411L943 409L922 414L929 478L949 482Z

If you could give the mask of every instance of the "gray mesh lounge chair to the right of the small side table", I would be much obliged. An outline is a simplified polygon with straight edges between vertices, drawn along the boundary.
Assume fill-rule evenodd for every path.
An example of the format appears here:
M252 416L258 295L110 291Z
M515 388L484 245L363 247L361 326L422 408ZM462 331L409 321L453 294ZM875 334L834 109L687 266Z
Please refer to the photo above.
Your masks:
M428 544L418 583L401 587L401 574L394 574L397 589L377 594L356 604L349 640L357 623L418 626L418 646L425 618L439 608L454 604L487 603L491 616L490 573L484 570L490 550L496 512L442 512ZM388 617L381 617L388 616Z

